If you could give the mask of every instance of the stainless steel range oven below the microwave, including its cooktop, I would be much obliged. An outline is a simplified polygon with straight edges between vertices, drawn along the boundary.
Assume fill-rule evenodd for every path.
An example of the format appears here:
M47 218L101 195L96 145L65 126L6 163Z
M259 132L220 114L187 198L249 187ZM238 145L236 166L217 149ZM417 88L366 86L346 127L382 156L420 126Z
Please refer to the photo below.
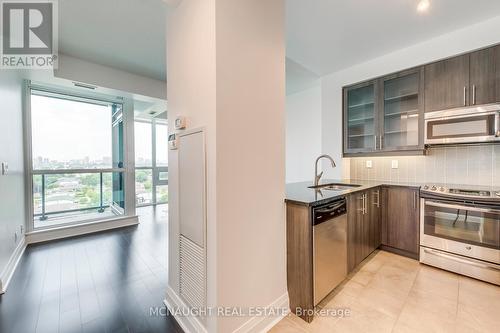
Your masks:
M420 261L500 285L497 192L426 187L421 194Z

